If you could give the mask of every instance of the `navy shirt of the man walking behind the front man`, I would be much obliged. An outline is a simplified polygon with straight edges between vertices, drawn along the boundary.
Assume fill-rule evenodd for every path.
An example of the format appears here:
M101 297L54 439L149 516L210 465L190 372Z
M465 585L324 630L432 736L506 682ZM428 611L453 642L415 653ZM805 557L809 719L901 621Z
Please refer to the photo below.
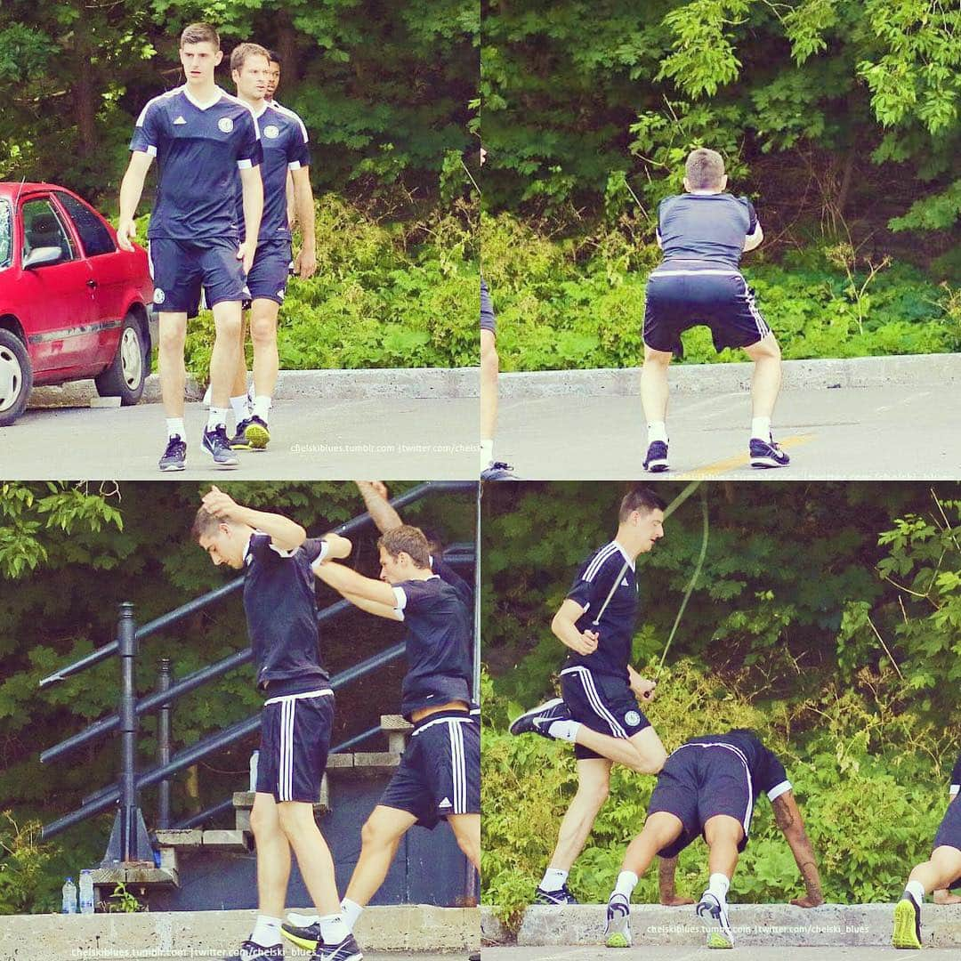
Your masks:
M260 179L263 181L263 215L260 218L258 240L289 240L287 221L287 171L300 170L310 165L307 127L294 111L281 107L276 101L265 103L257 116L263 162ZM240 236L244 235L243 190L240 178L236 183L236 221Z

